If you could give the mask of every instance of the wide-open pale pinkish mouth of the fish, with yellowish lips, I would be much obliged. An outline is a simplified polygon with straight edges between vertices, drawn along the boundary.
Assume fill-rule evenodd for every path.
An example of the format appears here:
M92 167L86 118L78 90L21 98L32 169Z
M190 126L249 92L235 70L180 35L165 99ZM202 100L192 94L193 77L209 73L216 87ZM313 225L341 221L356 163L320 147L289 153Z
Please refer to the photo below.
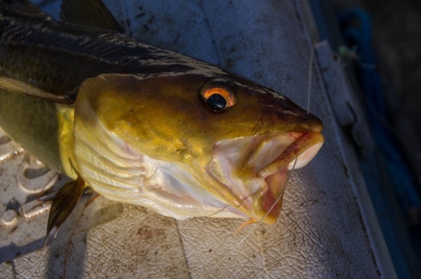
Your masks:
M288 173L294 165L307 165L323 140L320 132L266 132L220 140L213 146L208 173L228 190L222 198L229 204L253 219L267 215L263 221L272 224L281 212L282 198L274 203L283 195Z

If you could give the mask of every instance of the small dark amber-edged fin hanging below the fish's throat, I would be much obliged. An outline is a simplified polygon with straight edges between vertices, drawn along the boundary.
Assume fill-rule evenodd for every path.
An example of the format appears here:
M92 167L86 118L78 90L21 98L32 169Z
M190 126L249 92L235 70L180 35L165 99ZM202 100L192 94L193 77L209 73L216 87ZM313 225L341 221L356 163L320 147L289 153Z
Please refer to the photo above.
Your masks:
M74 181L67 182L55 195L48 216L47 238L54 228L59 228L69 217L70 213L81 198L86 182L78 177Z

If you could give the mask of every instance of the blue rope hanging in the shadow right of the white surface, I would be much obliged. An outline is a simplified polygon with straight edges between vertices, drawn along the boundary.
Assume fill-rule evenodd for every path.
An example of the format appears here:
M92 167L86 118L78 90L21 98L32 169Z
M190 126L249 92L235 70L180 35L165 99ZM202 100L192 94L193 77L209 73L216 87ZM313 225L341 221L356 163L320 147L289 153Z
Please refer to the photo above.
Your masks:
M371 48L370 16L361 9L353 9L342 15L340 23L349 48L356 46L356 54L361 59L361 67L356 71L361 91L368 102L373 104L377 114L387 119L387 104L383 95L382 82L380 74L374 67L377 59ZM378 115L370 109L367 109L367 114L375 142L382 152L382 158L385 159L390 182L399 196L401 205L405 210L420 206L420 194L415 186L413 175L396 147L396 140L380 121Z

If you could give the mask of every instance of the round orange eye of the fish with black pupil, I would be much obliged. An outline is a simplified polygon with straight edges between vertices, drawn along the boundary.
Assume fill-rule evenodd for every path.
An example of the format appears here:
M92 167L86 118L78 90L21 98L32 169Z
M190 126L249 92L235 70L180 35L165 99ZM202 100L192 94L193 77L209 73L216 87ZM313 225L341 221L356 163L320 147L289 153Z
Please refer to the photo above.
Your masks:
M206 83L201 90L201 97L214 112L220 112L235 104L234 90L226 82L220 80Z

